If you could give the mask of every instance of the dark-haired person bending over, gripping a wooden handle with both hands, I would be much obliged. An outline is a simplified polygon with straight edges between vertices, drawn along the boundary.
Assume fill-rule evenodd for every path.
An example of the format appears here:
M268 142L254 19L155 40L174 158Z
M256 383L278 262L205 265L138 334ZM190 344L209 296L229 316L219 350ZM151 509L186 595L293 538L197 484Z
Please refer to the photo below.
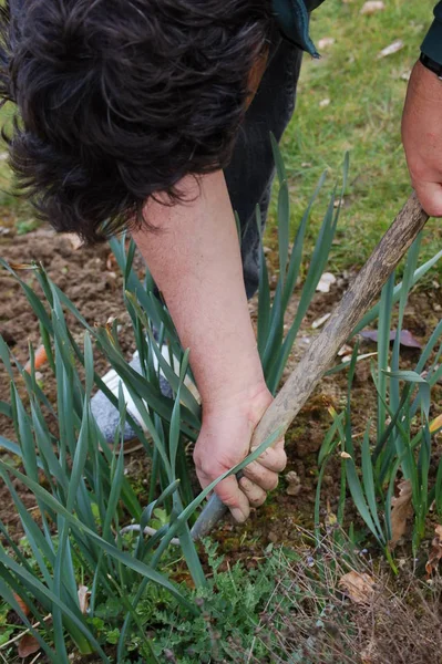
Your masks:
M3 100L18 107L18 186L58 231L94 243L130 229L202 396L203 487L249 452L271 403L247 298L258 284L279 141L318 0L11 0ZM402 134L412 184L442 216L442 2L415 64ZM241 224L238 243L233 210ZM274 489L284 440L216 492L237 521Z

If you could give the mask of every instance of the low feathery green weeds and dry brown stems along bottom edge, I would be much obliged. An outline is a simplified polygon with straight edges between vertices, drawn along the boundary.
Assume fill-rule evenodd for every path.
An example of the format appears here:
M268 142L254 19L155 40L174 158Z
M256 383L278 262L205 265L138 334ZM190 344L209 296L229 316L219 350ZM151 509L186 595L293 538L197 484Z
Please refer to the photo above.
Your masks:
M439 654L441 640L434 630L438 590L426 589L425 598L419 582L409 583L409 595L419 609L410 608L399 592L391 594L382 572L341 535L341 544L329 533L317 547L310 533L299 531L298 550L269 544L256 569L244 563L230 567L206 540L212 570L206 588L179 587L188 605L198 612L171 600L163 588L151 585L136 608L137 624L130 629L122 664L148 661L140 655L141 630L152 636L160 662L179 664L350 664L361 662L368 647L376 649L378 661L386 664L397 661L391 651L394 636L401 640L401 656L422 656L429 642ZM341 585L349 572L373 580L376 590L372 595L368 591L363 605L356 604ZM0 604L0 625L7 627L6 633L8 613L9 608ZM372 620L368 621L368 615ZM111 661L123 620L124 606L113 598L97 604L90 619L100 643L112 653ZM1 652L8 663L18 663L14 644Z

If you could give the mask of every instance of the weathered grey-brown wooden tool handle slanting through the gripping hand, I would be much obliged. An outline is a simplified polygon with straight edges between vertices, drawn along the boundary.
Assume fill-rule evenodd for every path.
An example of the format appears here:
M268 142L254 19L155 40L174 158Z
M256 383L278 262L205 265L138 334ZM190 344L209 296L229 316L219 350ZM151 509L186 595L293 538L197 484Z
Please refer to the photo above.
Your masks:
M413 193L343 294L322 332L309 345L299 364L265 412L254 432L250 447L261 445L278 428L284 433L288 429L428 218ZM199 539L207 535L226 511L226 506L214 495L192 528L193 538Z

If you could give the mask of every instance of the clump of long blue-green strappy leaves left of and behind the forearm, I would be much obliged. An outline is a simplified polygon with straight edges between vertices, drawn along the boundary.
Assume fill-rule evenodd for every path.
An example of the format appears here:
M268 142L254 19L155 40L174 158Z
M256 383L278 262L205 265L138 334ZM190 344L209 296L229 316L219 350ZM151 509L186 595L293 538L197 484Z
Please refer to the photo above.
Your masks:
M284 317L301 270L304 242L311 206L323 185L321 177L310 205L289 249L289 191L278 146L273 139L277 175L279 276L274 297L270 294L268 270L261 260L258 312L258 346L269 388L275 393L290 353L300 322L326 267L339 206L335 191L317 239L310 267L300 294L295 322L284 336ZM347 173L347 160L345 172ZM257 224L260 228L259 212ZM39 294L28 283L21 269L0 259L1 267L24 291L40 325L48 363L56 378L56 403L49 401L34 366L34 350L29 346L30 371L0 338L0 360L10 378L10 400L0 402L0 412L14 425L14 440L0 436L0 448L18 461L0 460L0 474L10 491L20 517L30 557L0 522L3 544L0 546L0 591L2 598L19 614L23 624L38 639L48 660L69 663L68 643L73 642L82 655L96 653L103 662L109 654L94 629L94 611L106 600L124 606L125 621L120 630L116 662L123 662L129 626L137 624L136 608L147 584L166 589L186 610L189 606L179 589L161 570L161 562L173 537L179 538L182 554L197 588L205 584L205 574L188 523L195 510L216 481L194 496L186 455L188 442L198 436L201 406L186 378L193 380L185 351L167 308L155 293L153 278L146 268L140 280L133 269L135 246L125 238L113 239L112 250L122 270L124 303L130 314L142 373L126 361L119 343L117 321L105 326L90 325L75 305L51 281L42 266L28 266L38 281ZM66 322L74 317L84 330L78 342ZM167 363L162 354L166 344ZM114 395L94 370L94 346L116 371L129 391L141 421L135 419L124 402L123 390ZM175 373L175 357L179 372ZM155 362L155 359L157 362ZM160 372L173 390L173 398L160 390ZM120 426L112 445L106 443L91 412L91 397L102 390L119 408ZM151 459L148 504L141 505L124 474L124 437L127 422ZM237 467L223 476L237 473L259 456L270 439ZM10 457L11 458L11 457ZM218 480L220 480L219 478ZM21 500L14 480L32 494L35 509L29 511ZM168 522L152 538L143 536L155 508L166 509ZM122 536L122 526L136 522L141 532L135 538ZM79 588L88 585L88 609L81 606ZM23 605L29 614L23 611ZM48 620L50 616L50 620ZM39 623L39 627L33 626ZM145 631L141 655L156 662L154 649Z

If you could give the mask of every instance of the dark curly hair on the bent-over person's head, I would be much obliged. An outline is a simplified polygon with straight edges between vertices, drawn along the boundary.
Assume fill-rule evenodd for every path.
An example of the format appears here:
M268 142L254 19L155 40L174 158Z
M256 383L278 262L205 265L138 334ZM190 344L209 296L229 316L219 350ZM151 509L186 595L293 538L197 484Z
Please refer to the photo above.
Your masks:
M12 4L11 0L11 4ZM17 2L17 0L16 0ZM224 168L269 0L24 0L1 10L0 95L17 191L96 242L140 226L155 194ZM162 196L162 199L164 197Z

